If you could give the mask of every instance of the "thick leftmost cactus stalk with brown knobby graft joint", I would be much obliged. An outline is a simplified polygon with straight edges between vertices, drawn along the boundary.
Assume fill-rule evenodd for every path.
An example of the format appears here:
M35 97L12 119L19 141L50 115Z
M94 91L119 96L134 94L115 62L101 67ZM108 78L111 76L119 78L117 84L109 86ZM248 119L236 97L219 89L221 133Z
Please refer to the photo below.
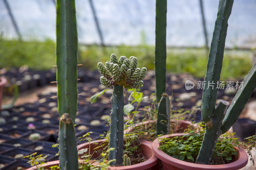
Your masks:
M78 44L75 0L57 0L56 13L60 169L78 169L74 129L77 110Z

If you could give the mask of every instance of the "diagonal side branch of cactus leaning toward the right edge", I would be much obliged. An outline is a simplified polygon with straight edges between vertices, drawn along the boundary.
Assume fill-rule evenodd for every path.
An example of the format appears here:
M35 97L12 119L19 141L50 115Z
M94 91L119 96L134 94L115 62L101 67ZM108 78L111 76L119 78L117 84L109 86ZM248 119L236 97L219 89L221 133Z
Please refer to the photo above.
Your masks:
M243 83L240 85L234 99L228 107L227 113L222 121L221 127L222 134L226 133L228 129L236 122L245 104L250 99L253 90L256 87L256 63L248 75L244 78Z

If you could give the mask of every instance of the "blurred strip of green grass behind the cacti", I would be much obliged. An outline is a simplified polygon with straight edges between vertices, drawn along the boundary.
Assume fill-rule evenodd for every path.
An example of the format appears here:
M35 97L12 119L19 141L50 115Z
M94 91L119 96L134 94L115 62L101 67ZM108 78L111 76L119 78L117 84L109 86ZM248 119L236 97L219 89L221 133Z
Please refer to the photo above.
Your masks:
M154 69L154 47L140 45L136 47L99 47L97 45L80 45L78 63L85 69L97 70L97 63L110 60L115 53L119 58L135 56L138 67ZM243 78L251 69L251 50L225 50L221 79ZM205 48L168 48L167 71L188 73L197 78L205 76L208 51ZM0 68L20 67L28 65L34 70L47 70L55 65L55 42L51 40L20 42L0 38Z

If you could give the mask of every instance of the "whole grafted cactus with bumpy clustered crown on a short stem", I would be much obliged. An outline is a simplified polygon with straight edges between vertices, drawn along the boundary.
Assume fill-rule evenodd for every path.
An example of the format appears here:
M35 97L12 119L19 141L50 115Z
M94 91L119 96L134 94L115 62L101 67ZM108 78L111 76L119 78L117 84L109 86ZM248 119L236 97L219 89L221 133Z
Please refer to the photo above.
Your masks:
M121 56L119 61L115 54L110 56L110 62L98 63L101 77L100 82L105 87L114 85L111 98L112 111L110 114L109 147L115 148L109 152L109 160L116 159L111 165L123 165L124 148L124 93L123 88L140 88L143 85L147 69L137 68L137 58L131 56L127 59Z

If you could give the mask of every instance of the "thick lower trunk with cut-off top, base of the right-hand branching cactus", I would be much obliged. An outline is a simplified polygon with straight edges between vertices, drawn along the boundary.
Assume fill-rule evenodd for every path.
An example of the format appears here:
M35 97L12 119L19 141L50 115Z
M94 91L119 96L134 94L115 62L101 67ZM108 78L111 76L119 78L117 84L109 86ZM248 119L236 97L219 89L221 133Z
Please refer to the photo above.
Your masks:
M227 101L221 100L213 113L212 119L205 123L206 129L203 143L200 148L198 157L196 158L197 164L208 165L210 163L215 145L221 135L220 128L222 126L222 120L228 109L228 104L229 103Z

